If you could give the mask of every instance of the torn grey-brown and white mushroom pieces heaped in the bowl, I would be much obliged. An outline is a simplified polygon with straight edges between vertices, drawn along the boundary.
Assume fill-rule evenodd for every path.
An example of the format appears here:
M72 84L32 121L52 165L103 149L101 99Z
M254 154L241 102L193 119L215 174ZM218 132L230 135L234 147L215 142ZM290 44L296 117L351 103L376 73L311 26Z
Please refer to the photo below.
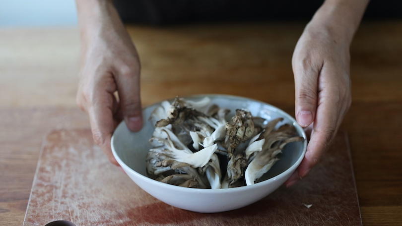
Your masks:
M155 130L146 158L147 173L158 181L183 187L230 188L252 185L279 159L283 147L302 141L293 125L266 123L238 109L228 109L176 97L155 108ZM277 128L276 128L277 127Z

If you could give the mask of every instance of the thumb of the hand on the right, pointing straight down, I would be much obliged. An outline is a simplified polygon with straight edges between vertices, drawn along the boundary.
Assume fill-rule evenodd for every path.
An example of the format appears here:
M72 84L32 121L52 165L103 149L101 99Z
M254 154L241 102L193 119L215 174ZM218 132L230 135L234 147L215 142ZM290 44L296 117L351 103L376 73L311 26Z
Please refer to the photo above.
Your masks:
M295 115L302 127L310 125L317 109L319 67L315 62L303 58L295 60L293 74L295 81Z

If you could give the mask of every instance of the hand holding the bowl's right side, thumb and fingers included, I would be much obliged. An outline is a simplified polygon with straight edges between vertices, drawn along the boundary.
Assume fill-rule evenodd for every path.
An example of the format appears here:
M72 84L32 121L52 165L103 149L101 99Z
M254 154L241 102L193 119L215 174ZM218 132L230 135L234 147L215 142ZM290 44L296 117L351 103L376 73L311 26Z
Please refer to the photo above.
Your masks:
M302 127L312 127L306 155L286 180L287 187L306 176L329 148L351 104L350 42L336 29L312 20L292 57L295 115Z

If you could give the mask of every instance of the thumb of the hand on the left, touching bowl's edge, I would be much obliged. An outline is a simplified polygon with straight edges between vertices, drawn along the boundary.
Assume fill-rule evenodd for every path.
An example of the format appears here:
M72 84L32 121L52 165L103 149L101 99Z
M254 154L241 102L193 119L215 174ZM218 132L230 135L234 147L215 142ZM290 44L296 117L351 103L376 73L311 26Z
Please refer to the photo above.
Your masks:
M120 107L127 127L132 131L142 128L142 108L139 92L139 70L126 69L118 74L117 89Z

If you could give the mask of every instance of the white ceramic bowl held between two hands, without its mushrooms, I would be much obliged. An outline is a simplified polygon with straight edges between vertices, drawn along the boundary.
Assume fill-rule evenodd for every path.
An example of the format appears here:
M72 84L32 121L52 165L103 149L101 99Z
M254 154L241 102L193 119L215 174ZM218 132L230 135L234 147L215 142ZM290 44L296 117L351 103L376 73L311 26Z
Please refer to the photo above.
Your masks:
M261 116L268 120L283 117L284 120L277 126L291 123L296 127L298 135L306 138L303 129L293 117L260 101L227 95L202 95L186 97L186 99L200 100L205 96L211 99L211 103L217 104L221 108L230 109L232 115L236 109L248 109L253 116ZM283 149L283 153L280 154L280 160L260 178L260 182L251 186L212 190L162 183L149 178L145 167L145 156L151 148L148 140L154 130L154 125L147 118L159 104L154 104L143 110L144 126L139 132L131 132L124 122L120 123L112 136L112 151L117 162L139 187L153 197L174 207L201 213L216 213L250 205L283 184L299 166L306 152L306 139L303 142L289 143Z

